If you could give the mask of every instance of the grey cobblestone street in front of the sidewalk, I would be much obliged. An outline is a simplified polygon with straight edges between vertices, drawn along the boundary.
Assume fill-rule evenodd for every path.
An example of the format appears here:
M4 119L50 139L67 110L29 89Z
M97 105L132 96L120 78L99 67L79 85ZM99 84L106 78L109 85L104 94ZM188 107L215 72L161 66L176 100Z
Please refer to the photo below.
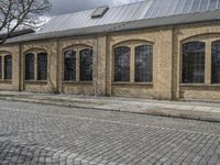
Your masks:
M0 164L220 164L220 123L0 101Z

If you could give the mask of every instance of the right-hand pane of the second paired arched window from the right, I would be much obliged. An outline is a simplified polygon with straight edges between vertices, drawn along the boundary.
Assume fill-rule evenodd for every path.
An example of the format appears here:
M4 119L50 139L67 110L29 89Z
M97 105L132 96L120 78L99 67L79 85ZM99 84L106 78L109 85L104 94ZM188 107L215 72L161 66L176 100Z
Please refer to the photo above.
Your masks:
M135 81L151 82L153 79L153 46L135 47Z

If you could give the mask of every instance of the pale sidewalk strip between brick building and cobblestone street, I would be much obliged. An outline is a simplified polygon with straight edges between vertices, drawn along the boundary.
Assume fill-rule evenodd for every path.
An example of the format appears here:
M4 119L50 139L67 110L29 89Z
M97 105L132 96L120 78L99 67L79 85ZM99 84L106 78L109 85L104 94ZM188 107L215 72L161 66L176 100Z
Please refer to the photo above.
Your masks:
M220 122L220 102L0 91L0 99Z

